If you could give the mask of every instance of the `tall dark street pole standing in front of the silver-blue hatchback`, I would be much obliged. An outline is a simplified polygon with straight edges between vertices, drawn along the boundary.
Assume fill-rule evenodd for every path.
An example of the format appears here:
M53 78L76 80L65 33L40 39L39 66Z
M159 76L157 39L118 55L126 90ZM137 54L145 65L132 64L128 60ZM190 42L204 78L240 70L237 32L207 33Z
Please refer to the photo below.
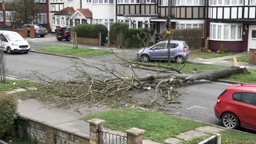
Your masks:
M167 26L168 26L168 31L166 32L168 35L168 51L167 51L167 58L168 58L168 65L171 64L171 44L170 44L170 39L171 39L171 0L168 0L168 17L167 17Z

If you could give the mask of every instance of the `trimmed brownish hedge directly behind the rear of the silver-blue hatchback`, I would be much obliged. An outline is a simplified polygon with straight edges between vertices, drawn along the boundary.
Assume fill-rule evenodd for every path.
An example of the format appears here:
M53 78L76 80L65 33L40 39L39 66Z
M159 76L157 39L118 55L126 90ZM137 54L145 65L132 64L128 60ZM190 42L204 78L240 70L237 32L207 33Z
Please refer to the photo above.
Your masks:
M167 40L166 31L162 32L164 34L164 40ZM172 40L183 40L186 41L187 45L193 49L200 49L202 47L202 37L203 29L202 28L193 28L193 29L172 29L171 30L171 39Z

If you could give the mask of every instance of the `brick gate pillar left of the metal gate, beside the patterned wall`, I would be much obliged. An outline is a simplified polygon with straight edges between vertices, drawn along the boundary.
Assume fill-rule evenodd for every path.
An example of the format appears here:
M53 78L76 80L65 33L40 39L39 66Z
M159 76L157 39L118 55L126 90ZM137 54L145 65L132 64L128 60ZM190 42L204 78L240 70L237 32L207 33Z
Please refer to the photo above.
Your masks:
M102 127L102 124L105 123L105 121L95 118L86 122L90 124L90 144L100 144L98 141L98 129Z

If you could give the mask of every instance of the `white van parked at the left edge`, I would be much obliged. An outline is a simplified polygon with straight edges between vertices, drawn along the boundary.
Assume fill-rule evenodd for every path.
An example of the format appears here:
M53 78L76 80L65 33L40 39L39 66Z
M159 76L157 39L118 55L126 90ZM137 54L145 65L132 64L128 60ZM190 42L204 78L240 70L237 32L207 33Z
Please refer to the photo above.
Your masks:
M30 51L30 44L19 33L0 31L0 48L7 53L28 53Z

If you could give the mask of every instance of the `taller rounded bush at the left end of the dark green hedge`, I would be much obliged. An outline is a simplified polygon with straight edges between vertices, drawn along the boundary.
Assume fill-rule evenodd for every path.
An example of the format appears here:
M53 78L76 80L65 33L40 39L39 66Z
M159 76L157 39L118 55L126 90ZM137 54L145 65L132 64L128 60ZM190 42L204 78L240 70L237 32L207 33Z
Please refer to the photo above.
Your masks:
M109 29L109 41L112 45L123 46L123 42L126 37L126 33L129 29L128 23L115 22Z

